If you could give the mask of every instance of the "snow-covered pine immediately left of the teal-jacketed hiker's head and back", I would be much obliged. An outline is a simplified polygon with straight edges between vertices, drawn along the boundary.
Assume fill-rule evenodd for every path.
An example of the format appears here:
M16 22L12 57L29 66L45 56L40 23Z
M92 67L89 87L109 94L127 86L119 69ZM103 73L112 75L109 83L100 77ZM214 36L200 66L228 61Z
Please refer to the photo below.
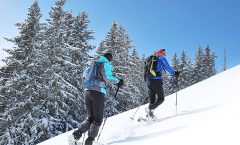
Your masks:
M79 13L73 21L71 34L68 37L68 59L64 69L64 79L74 88L69 91L73 97L69 100L69 113L72 114L74 121L82 121L84 114L84 97L82 87L82 73L89 61L88 52L94 47L89 44L93 37L93 31L88 29L90 21L86 12ZM73 91L75 90L75 91ZM77 126L75 126L77 127Z

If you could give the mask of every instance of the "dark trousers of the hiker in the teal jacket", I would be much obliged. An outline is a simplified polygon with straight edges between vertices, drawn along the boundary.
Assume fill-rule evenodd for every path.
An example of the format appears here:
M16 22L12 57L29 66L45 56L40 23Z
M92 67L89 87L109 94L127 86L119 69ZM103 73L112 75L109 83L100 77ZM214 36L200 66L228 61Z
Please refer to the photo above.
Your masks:
M88 131L88 137L94 139L98 135L104 113L104 94L97 91L85 91L85 103L88 117L79 127L82 133Z

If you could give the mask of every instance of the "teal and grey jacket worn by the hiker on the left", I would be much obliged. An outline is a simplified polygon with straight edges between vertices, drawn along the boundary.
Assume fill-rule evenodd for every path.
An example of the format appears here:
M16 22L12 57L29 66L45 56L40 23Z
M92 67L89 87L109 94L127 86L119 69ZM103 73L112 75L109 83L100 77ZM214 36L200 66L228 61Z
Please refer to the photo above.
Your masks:
M101 56L97 60L97 62L102 62L103 63L103 65L101 65L100 68L99 68L100 72L101 72L101 76L103 78L103 81L105 83L117 84L119 82L119 79L112 75L113 66L110 64L108 59L104 56ZM85 88L85 90L94 90L94 91L102 92L105 95L107 94L106 88L101 87L101 86L91 86L91 87Z

